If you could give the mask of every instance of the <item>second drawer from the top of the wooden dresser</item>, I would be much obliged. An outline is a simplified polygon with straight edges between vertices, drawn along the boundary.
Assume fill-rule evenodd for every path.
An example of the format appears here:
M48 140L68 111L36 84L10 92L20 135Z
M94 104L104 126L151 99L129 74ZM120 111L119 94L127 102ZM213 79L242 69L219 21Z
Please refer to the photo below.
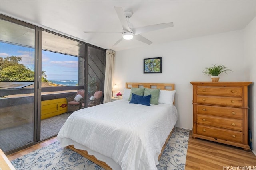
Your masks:
M222 106L242 107L242 98L234 97L219 97L219 96L196 96L196 102L201 104L214 104Z

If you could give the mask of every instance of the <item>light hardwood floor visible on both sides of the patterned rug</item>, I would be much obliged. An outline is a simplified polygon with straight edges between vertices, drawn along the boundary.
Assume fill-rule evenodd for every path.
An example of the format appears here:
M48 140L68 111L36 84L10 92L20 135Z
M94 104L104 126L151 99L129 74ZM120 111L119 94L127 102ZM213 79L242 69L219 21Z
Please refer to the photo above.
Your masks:
M56 137L7 157L14 160L55 141ZM256 156L251 151L203 139L193 139L190 131L185 170L250 170L249 167L256 170Z

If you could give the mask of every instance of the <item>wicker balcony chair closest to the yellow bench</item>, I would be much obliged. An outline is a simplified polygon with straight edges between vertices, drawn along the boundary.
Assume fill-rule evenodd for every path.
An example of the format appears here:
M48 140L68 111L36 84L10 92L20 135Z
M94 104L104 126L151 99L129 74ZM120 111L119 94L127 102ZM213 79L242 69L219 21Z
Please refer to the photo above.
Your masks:
M81 99L78 102L76 102L76 100L74 100L74 98L78 94L80 94L82 96L81 99L84 98L84 90L77 90L77 92L74 93L72 96L66 97L67 104L68 104L68 112L74 112L74 111L77 111L77 110L81 109L81 102L80 102Z

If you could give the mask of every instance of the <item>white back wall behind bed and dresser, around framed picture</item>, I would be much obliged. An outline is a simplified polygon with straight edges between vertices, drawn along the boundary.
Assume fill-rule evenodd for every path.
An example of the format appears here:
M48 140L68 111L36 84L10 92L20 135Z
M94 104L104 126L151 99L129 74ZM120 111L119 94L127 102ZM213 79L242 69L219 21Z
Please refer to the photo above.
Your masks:
M136 40L134 40L136 41ZM191 81L211 81L202 71L212 64L223 64L232 72L220 74L220 81L245 81L243 31L232 31L175 41L144 48L116 51L114 84L125 82L175 83L177 127L192 129ZM143 58L162 57L162 74L143 74ZM255 61L254 61L255 63Z

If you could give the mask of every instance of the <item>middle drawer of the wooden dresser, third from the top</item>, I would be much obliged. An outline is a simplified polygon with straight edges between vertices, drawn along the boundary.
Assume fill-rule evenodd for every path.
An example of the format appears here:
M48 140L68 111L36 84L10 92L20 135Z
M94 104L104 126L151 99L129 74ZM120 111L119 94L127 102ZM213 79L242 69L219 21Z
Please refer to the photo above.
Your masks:
M234 107L196 105L196 113L243 119L243 109Z

